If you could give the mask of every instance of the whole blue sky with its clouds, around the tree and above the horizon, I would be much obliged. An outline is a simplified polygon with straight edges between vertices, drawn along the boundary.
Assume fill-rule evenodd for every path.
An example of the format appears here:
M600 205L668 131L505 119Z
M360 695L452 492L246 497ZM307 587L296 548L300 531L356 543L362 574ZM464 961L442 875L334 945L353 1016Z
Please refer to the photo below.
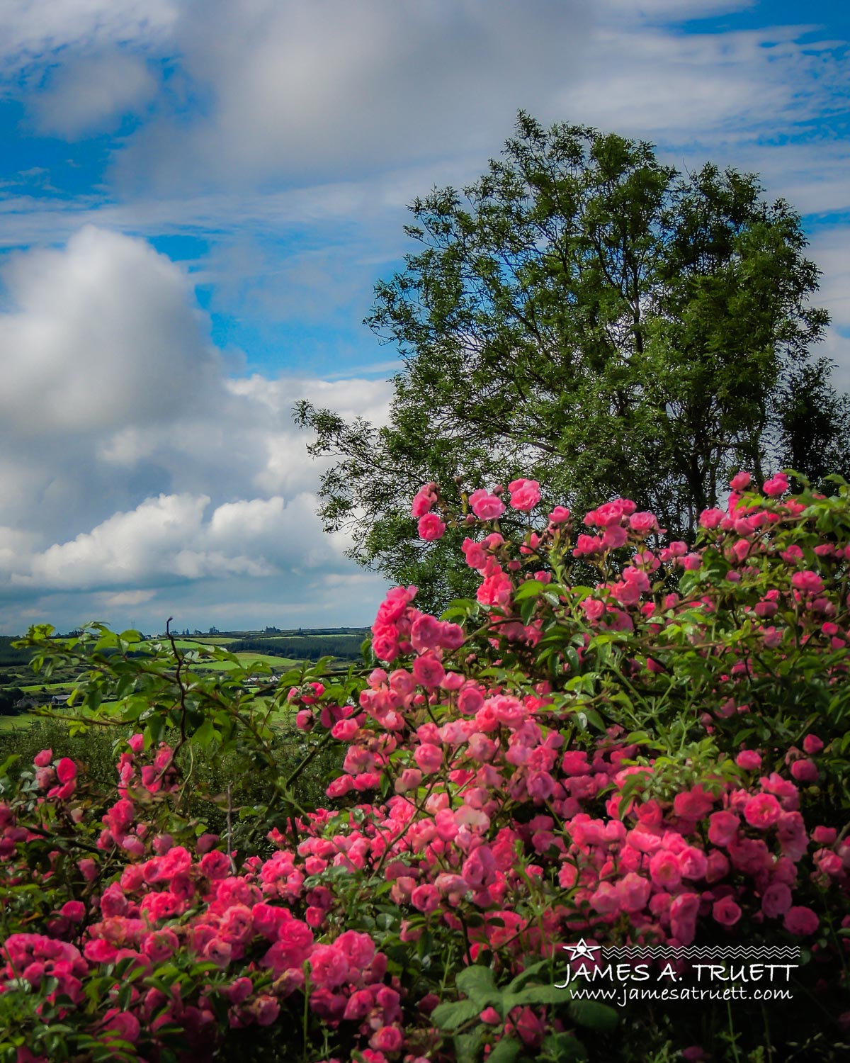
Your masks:
M850 24L737 0L6 0L0 630L368 624L291 407L380 420L405 205L523 107L762 174L850 384Z

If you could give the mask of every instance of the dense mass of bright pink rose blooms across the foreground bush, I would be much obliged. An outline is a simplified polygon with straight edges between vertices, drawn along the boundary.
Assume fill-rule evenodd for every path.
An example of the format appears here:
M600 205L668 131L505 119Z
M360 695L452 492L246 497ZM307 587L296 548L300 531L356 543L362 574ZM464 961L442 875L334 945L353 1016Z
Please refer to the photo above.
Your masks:
M421 999L388 959L377 922L346 925L376 897L387 934L411 957L434 949L436 966L440 948L461 963L487 952L499 977L577 934L682 946L744 932L799 939L837 967L847 939L830 951L821 935L824 913L846 911L850 897L850 839L818 804L834 726L826 710L800 710L784 731L793 741L778 738L754 680L802 647L822 654L818 681L840 696L850 545L832 533L803 539L805 507L784 497L782 474L761 496L749 487L747 474L732 479L726 510L701 514L694 546L662 545L657 518L626 499L589 512L590 535L574 535L568 510L556 507L516 542L496 529L468 537L464 559L480 576L469 627L418 609L414 587L392 588L372 627L379 667L357 696L321 682L289 691L300 737L338 743L342 770L326 791L334 807L282 822L268 858L237 864L216 836L178 844L157 829L156 810L177 786L173 752L146 754L133 736L117 796L98 811L95 851L78 861L80 896L57 906L46 933L6 940L0 992L17 992L21 978L40 992L55 979L53 999L76 1002L86 979L109 980L112 965L129 961L132 990L119 1007L114 984L91 1030L120 1034L151 1060L174 1025L200 1061L222 1036L219 1012L241 1030L301 1020L305 1007L309 1023L369 1063L439 1058L429 1016L443 975ZM498 520L505 495L474 491L474 516L458 524ZM507 497L530 512L539 485L513 480ZM452 520L435 484L412 516L424 539ZM572 558L598 566L597 586L556 581ZM717 634L721 622L734 638ZM612 646L622 653L605 686L595 670ZM699 748L716 743L713 760L662 756L651 736L615 722L641 695L660 692L658 706L673 696L685 652L711 675L686 726L706 740ZM619 701L609 696L612 676ZM727 738L756 711L748 741ZM36 810L50 803L80 823L76 764L44 750L33 766ZM0 867L13 881L40 837L27 814L23 802L0 805ZM117 874L104 871L110 860ZM211 973L191 986L156 978L163 964L198 962ZM518 1037L531 1050L551 1027L533 1007L508 1016L487 1008L480 1020L489 1045Z

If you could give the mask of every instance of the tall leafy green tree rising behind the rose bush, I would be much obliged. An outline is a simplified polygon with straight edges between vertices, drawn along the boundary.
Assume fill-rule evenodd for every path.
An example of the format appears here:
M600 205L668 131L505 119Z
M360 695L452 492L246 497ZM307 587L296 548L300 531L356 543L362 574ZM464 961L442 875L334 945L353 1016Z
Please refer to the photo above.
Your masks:
M829 318L809 303L799 216L762 193L755 175L681 174L649 144L521 112L475 184L411 204L418 251L376 286L367 323L404 359L389 423L295 408L310 452L337 459L325 527L436 607L471 585L452 537L416 540L422 483L536 476L581 512L628 493L690 539L730 472L794 454L806 473L832 443L798 445L793 410L800 388L810 405L830 389L809 353Z

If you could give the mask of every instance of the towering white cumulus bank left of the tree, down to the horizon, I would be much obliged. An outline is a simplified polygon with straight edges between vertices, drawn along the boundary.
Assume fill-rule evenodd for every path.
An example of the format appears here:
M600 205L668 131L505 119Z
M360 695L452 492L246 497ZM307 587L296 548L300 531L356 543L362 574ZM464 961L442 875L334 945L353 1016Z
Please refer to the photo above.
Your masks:
M292 404L381 419L389 386L228 377L187 276L141 239L89 226L5 280L0 596L148 615L190 585L226 602L264 580L329 608L326 575L353 567L321 533Z

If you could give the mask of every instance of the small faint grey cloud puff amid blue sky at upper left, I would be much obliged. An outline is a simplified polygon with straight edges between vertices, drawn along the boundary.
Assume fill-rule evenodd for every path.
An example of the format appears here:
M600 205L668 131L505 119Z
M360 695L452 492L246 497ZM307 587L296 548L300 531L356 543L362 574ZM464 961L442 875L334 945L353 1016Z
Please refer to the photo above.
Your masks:
M58 67L32 105L39 133L69 140L112 128L156 94L144 62L128 52L80 56Z

